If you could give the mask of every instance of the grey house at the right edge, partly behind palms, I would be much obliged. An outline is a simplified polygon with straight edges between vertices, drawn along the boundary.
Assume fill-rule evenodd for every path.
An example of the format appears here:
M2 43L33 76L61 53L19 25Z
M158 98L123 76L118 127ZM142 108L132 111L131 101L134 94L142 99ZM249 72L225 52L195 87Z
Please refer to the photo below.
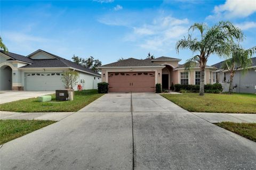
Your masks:
M216 82L222 84L223 91L228 91L230 73L228 70L222 69L223 64L225 64L225 61L212 65L212 67L218 68L213 74L213 78ZM233 78L233 91L256 93L256 57L252 58L252 65L245 73L239 69L239 66L237 67L237 71Z

